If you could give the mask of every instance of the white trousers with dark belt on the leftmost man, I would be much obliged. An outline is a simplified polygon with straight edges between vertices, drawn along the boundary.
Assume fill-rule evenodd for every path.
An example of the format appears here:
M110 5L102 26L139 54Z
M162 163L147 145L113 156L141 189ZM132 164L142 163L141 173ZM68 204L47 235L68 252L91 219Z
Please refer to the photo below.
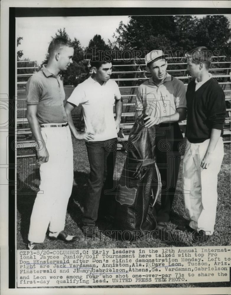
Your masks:
M73 148L69 126L41 128L49 160L40 162L40 186L30 218L28 240L41 243L47 227L60 232L65 226L73 186Z

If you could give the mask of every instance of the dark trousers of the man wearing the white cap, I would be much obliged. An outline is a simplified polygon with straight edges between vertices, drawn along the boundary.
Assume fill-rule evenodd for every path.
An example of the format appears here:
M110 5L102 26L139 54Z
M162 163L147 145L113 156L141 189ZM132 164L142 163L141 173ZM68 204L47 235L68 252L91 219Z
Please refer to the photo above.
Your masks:
M161 207L157 214L157 222L168 222L176 190L183 136L178 123L173 123L167 128L164 125L160 127L157 128L155 137L156 163L162 182ZM164 131L164 134L158 135L161 131Z

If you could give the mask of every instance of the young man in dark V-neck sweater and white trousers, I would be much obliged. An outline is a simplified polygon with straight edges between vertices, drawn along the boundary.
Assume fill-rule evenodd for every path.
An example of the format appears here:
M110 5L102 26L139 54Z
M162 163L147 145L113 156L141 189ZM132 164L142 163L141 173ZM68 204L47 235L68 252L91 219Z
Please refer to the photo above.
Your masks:
M188 85L187 148L183 162L183 189L189 227L199 236L212 235L217 209L217 175L224 156L222 133L225 95L209 73L211 53L197 47L187 55L193 81Z

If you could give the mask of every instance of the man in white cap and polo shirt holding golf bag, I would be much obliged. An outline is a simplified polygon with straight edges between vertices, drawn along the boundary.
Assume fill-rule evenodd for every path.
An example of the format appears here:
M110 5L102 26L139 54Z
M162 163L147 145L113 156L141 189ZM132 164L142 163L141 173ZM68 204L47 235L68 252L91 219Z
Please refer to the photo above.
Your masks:
M186 90L184 83L167 70L166 55L152 50L145 56L145 64L152 75L139 86L136 115L144 115L145 127L154 127L156 163L161 175L161 208L157 214L157 229L167 227L178 176L183 139L178 121L186 118Z

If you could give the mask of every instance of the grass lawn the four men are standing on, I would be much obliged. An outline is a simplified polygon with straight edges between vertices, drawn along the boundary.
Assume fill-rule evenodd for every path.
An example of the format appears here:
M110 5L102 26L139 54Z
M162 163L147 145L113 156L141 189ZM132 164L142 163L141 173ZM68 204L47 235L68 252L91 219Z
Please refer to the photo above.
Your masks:
M68 98L73 91L73 88L65 88L66 98ZM76 122L79 117L80 109L74 110L76 116ZM73 190L68 203L68 209L66 213L65 230L69 234L77 235L79 240L73 244L65 244L62 241L50 241L45 239L45 249L78 249L78 248L155 248L155 247L186 247L186 246L218 246L218 245L230 245L230 144L225 144L225 156L222 162L222 168L218 175L218 204L217 204L217 217L215 231L217 231L218 240L211 240L208 242L194 243L191 240L191 234L189 234L184 241L167 241L171 233L172 236L179 235L183 238L184 232L177 231L178 224L188 223L188 217L184 208L184 200L181 189L181 173L179 173L178 186L176 189L175 198L173 201L173 207L171 211L171 223L168 226L165 235L155 236L154 239L150 239L145 242L123 242L112 239L107 241L105 236L102 235L102 239L99 241L92 241L86 239L83 236L82 231L79 228L82 212L84 196L87 192L87 179L89 175L89 162L86 153L86 146L83 141L78 141L74 138L73 151L74 151L74 181ZM121 155L120 159L116 163L114 176L118 176L122 170L124 163L124 155ZM40 183L39 178L39 165L35 158L18 158L17 159L17 181L19 194L17 195L17 249L25 249L28 243L27 235L30 225L30 215L32 207ZM182 164L181 164L182 171ZM63 183L65 185L65 183ZM160 199L157 200L156 207L160 206ZM39 222L39 221L38 221ZM112 223L99 222L99 229L111 230ZM167 235L167 236L166 236ZM213 287L213 286L230 286L229 283L189 283L189 284L161 284L161 285L142 285L142 287ZM115 286L108 286L115 287ZM124 286L116 286L124 287ZM131 285L128 287L138 287L137 285Z

